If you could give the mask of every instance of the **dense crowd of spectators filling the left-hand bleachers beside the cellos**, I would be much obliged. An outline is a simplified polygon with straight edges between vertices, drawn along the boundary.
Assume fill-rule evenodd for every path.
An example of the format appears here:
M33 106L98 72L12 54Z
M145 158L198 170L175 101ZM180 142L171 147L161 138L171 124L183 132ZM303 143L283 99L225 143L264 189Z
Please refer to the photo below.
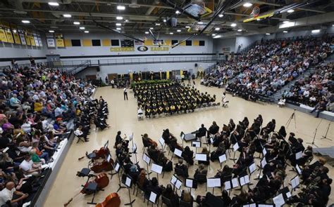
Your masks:
M107 110L99 107L106 103L90 98L87 81L42 65L4 69L0 88L0 206L21 206L42 190L73 123L85 136L90 119L104 127ZM14 188L11 201L6 192Z

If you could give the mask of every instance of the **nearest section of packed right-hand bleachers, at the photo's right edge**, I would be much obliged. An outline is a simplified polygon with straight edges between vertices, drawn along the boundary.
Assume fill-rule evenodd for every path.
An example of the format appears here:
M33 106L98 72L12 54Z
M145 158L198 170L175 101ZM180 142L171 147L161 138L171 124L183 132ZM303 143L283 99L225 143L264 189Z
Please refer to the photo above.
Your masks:
M315 67L314 72L295 82L290 91L282 96L287 102L315 107L321 100L326 102L326 110L334 112L333 62L326 62Z

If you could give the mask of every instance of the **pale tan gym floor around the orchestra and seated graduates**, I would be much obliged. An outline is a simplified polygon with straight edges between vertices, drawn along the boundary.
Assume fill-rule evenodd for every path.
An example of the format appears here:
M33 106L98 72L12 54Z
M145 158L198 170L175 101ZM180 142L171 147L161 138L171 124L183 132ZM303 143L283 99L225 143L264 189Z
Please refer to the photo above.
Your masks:
M197 81L197 88L201 92L208 92L211 95L216 94L218 100L220 100L223 93L221 88L208 88L205 86L200 86ZM66 203L68 199L73 197L75 194L80 192L82 189L81 185L84 185L86 178L79 178L76 176L77 171L80 171L82 168L87 167L88 159L82 159L78 161L78 158L85 156L85 152L92 152L94 149L99 149L104 145L106 140L109 140L109 149L111 149L111 154L113 159L116 159L116 153L113 149L113 144L115 142L115 137L117 131L121 131L122 135L130 135L133 133L135 143L137 144L137 160L139 161L140 166L146 167L146 163L142 161L142 138L141 135L147 133L149 138L158 142L158 139L161 137L163 129L169 128L169 131L175 135L175 137L180 138L180 132L190 133L197 130L199 126L204 123L206 128L211 126L212 121L216 121L218 126L223 126L223 123L227 124L229 119L233 119L235 123L237 121L242 121L242 119L247 116L249 119L249 124L253 123L253 119L256 118L259 114L262 114L264 118L264 125L268 123L271 119L276 119L276 130L280 126L285 125L293 113L292 109L289 108L278 108L277 105L264 105L257 102L249 102L241 98L232 97L227 95L227 100L230 101L230 104L227 108L218 107L218 108L206 108L199 109L193 113L189 114L179 114L175 116L166 116L155 119L144 119L143 121L137 120L137 101L133 97L133 94L129 94L129 100L123 100L123 90L111 88L106 86L104 88L98 88L95 93L95 98L99 98L102 95L104 100L109 104L109 119L108 123L111 125L111 128L104 131L94 131L92 127L91 133L89 135L89 142L79 142L76 143L76 140L73 141L72 146L70 147L66 158L63 161L61 169L56 177L53 187L49 192L47 201L44 203L44 206L63 206L63 203ZM321 122L321 123L320 123ZM320 124L319 124L320 123ZM295 121L292 120L290 125L286 128L287 133L294 132L297 138L302 138L304 140L304 146L306 147L306 142L311 142L314 138L314 132L318 126L318 131L316 133L315 144L318 147L329 147L333 146L333 141L324 140L322 138L326 133L329 121L316 119L310 114L304 114L301 112L296 112L296 125ZM334 127L331 126L328 131L328 137L334 137ZM181 142L181 140L179 141ZM190 142L185 142L184 145L189 145ZM131 146L131 145L130 145ZM194 147L191 147L195 151ZM236 157L239 157L237 152ZM168 156L171 159L171 154ZM317 158L314 158L316 161ZM135 161L135 156L132 156L132 161ZM177 159L174 157L173 163L177 163ZM255 159L256 163L259 163L259 159ZM195 162L197 163L197 162ZM233 166L233 161L228 160L225 164L228 164L230 167ZM329 176L334 178L334 169L326 164L330 169ZM189 168L190 178L193 178L194 171L197 166L191 166ZM217 170L220 168L218 161L211 162L211 167L208 172L208 178L213 177ZM295 172L290 172L291 167L287 168L287 178L285 178L285 186L289 186L289 181L295 177ZM259 171L256 171L251 176L251 181L257 177ZM164 178L159 175L159 185L166 186L171 180L171 175L173 172L165 173ZM156 173L151 174L151 178L156 176ZM256 182L254 182L256 183ZM254 185L250 186L251 188ZM334 185L332 184L332 189ZM291 187L290 187L291 188ZM103 192L98 192L95 197L95 201L101 202L104 201L104 198L116 192L118 189L118 177L113 176L109 185L105 188ZM185 187L182 187L185 189ZM245 187L247 189L247 187ZM208 188L208 191L212 192L212 189ZM239 194L240 191L233 190L231 195ZM292 192L292 195L295 195L297 192ZM118 192L121 199L121 206L124 206L125 203L128 203L129 196L127 189L120 189ZM180 192L178 192L180 195ZM192 195L196 198L197 195L205 195L205 185L199 185L198 189L192 189ZM217 188L214 191L215 195L220 195L221 192ZM89 206L87 202L91 201L92 196L84 196L80 194L75 197L69 206ZM141 194L138 196L133 196L131 191L131 199L135 199L133 206L147 206L146 203L143 203L143 198ZM328 203L334 202L334 191L330 195L330 200Z

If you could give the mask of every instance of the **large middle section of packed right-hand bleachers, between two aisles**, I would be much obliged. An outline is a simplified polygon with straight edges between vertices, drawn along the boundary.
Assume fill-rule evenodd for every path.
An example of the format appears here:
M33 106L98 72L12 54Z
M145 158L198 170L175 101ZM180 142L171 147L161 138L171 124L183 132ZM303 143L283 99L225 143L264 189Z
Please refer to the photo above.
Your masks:
M247 53L245 60L249 61L249 67L226 90L246 100L271 96L311 65L326 59L332 53L332 39L306 36L262 41Z

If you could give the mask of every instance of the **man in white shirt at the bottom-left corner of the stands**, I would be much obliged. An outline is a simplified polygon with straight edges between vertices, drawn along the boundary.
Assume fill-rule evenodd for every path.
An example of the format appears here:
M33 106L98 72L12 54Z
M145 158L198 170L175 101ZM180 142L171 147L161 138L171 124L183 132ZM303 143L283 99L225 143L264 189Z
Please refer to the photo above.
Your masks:
M29 194L24 194L15 189L14 182L7 182L6 187L0 192L0 206L1 207L16 207L23 203Z

